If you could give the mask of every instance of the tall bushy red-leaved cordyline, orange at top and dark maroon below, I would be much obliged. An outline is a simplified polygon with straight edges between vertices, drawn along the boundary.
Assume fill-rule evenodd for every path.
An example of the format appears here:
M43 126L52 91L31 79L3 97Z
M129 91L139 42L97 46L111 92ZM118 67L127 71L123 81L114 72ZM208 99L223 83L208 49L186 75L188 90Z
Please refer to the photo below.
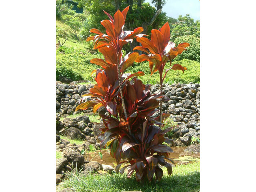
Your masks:
M83 95L76 110L93 107L93 112L96 112L103 106L108 111L100 115L104 128L101 129L102 134L98 139L101 141L101 148L110 146L110 154L118 164L117 173L124 173L124 169L130 166L128 178L135 171L137 181L144 178L152 180L154 174L156 179L160 180L163 171L159 165L167 168L168 175L172 174L172 167L165 161L169 159L168 153L172 152L172 149L163 144L164 134L170 129L161 130L155 126L154 124L162 123L159 122L159 117L155 118L152 114L158 110L160 101L169 98L162 94L151 94L150 85L144 85L136 78L144 75L143 72L124 73L139 54L133 52L124 56L123 45L132 42L133 38L144 36L140 34L142 27L134 31L123 30L128 9L129 7L122 12L118 10L114 18L105 12L110 18L101 21L106 28L106 34L97 29L90 30L97 35L88 37L87 40L94 40L94 48L103 54L104 60L94 58L90 61L102 69L92 72L96 73L97 84L90 88L88 94ZM120 169L123 163L126 166Z

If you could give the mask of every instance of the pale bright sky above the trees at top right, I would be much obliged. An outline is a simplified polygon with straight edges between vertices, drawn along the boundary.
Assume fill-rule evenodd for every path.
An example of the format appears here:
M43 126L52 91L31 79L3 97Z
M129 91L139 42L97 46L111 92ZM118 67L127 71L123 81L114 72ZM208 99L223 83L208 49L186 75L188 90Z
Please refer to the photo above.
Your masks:
M145 0L151 3L151 0ZM151 4L152 5L152 4ZM200 20L200 1L199 0L166 0L162 8L166 15L172 18L178 18L179 15L190 17L194 20Z

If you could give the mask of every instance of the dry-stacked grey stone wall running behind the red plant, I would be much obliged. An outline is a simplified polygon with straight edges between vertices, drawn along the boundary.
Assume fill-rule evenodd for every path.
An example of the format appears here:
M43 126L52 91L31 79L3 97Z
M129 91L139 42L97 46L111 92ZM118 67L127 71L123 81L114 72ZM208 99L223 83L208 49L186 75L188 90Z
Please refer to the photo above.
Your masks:
M81 95L88 93L92 87L92 84L56 84L56 116L65 117L78 113L79 111L74 111ZM160 85L152 85L151 92L159 93ZM184 146L190 144L192 136L200 138L200 84L164 84L163 94L170 98L162 104L163 112L171 114L170 118L178 124L172 130L175 144ZM83 112L88 113L92 110ZM159 112L156 112L153 116L158 115Z

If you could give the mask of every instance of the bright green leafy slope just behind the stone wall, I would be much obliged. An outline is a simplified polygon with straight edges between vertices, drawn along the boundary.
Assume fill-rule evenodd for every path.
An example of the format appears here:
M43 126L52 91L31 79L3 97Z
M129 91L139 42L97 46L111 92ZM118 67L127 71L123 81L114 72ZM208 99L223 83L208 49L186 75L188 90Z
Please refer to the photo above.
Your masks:
M57 26L64 26L60 21L56 22ZM94 69L100 68L95 64L91 64L90 60L92 58L103 58L102 54L98 54L96 51L92 50L92 42L78 42L77 40L70 39L67 40L64 46L68 48L74 48L74 53L69 54L56 54L56 65L59 66L70 66L74 72L81 75L81 79L73 80L88 80L89 82L94 83L94 78L90 76L91 72ZM200 82L200 63L191 60L182 60L173 62L173 64L182 64L187 67L188 70L185 71L185 74L179 70L170 70L166 75L165 83L172 84L175 82L189 83L189 82ZM167 63L165 69L168 69L170 64ZM144 84L156 84L158 83L159 73L156 72L150 76L150 69L148 62L143 63L134 63L134 66L131 66L127 69L126 72L138 72L143 71L145 76L139 77Z

